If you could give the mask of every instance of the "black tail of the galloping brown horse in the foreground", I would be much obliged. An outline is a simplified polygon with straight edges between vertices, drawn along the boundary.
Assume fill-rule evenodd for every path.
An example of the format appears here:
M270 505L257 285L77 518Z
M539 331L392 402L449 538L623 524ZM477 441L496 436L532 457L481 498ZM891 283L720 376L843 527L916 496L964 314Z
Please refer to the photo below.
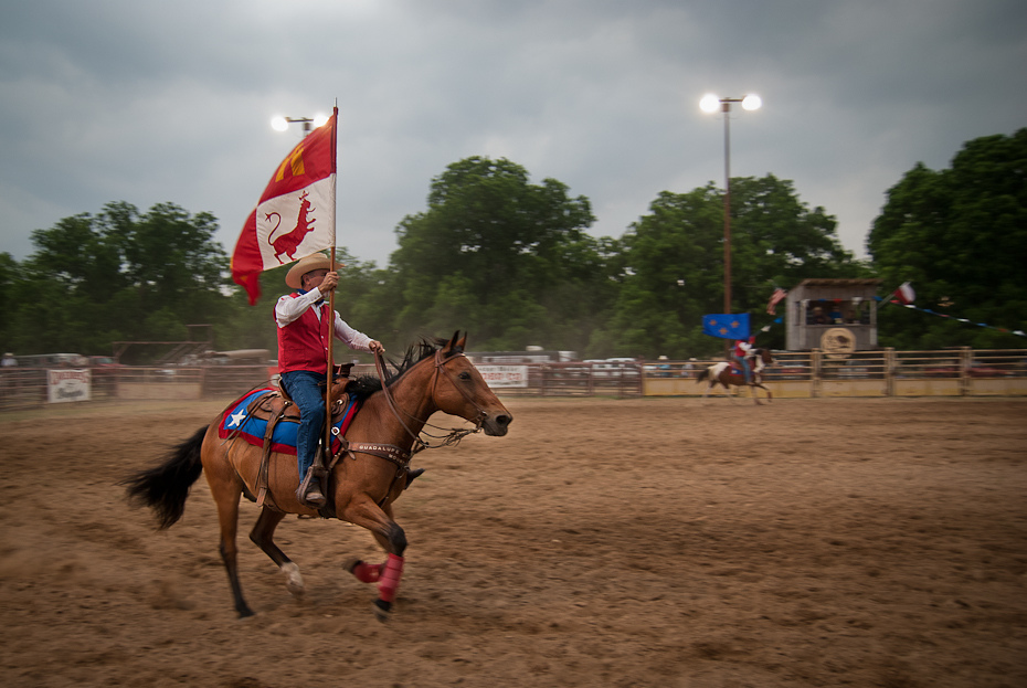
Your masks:
M200 446L207 428L201 427L192 437L168 452L165 463L135 473L119 483L126 486L129 501L153 508L160 530L170 528L182 518L189 488L203 472Z

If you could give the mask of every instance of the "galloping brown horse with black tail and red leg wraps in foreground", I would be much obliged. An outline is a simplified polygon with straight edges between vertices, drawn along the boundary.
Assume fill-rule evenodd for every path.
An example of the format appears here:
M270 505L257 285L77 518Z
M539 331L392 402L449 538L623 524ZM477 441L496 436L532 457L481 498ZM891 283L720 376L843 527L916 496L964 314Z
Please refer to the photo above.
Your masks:
M382 620L392 611L406 549L406 536L393 520L392 502L411 479L407 466L411 454L427 447L420 434L428 417L443 411L475 424L474 431L452 431L449 440L478 430L486 435L505 435L512 421L510 412L463 353L466 336L458 338L458 335L454 334L448 341L422 341L411 347L401 363L393 362L394 373L385 380L370 375L353 380L347 391L368 396L346 432L343 451L335 463L326 462L331 466L326 489L328 512L370 530L388 554L383 564L352 561L347 567L360 581L379 583L374 605ZM174 447L163 464L134 474L124 485L131 500L153 508L159 528L165 529L181 518L189 488L200 473L207 475L218 507L221 558L229 573L235 611L241 617L251 616L253 611L239 583L235 532L240 496L245 494L252 499L258 493L263 449L243 440L220 438L218 425L214 422L201 427ZM437 446L442 444L446 443ZM304 591L299 567L275 544L275 527L286 514L319 512L300 504L295 495L299 484L295 456L272 454L267 476L267 501L250 539L278 565L289 592L299 596ZM324 509L320 516L326 516Z

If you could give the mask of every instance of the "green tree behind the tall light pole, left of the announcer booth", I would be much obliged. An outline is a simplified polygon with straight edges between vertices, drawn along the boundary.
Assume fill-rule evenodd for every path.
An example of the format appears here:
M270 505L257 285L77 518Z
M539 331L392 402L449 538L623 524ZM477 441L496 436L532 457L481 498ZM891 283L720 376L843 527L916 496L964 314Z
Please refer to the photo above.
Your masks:
M626 271L611 321L614 353L671 358L709 354L723 342L702 334L702 316L723 311L723 194L712 182L663 192L624 239ZM792 182L772 174L731 180L732 313L754 329L774 286L806 277L855 277L867 267L845 251L835 219L809 210ZM761 343L784 346L783 326ZM607 353L608 354L608 353Z

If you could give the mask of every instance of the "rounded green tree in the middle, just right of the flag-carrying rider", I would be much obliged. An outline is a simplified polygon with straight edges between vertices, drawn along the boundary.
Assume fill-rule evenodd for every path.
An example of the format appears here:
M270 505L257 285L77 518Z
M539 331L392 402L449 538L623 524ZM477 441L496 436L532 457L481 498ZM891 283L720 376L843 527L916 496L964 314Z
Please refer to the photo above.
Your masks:
M428 209L396 229L395 329L473 332L475 348L567 346L612 295L584 197L554 179L529 182L506 159L454 162L432 181Z

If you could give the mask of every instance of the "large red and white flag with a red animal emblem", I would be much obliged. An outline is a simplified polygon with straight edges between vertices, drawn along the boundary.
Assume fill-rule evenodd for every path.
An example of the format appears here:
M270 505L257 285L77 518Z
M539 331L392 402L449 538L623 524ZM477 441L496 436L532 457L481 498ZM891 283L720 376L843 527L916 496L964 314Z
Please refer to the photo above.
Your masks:
M335 245L336 127L339 108L285 157L232 252L232 279L250 305L261 296L261 273Z

